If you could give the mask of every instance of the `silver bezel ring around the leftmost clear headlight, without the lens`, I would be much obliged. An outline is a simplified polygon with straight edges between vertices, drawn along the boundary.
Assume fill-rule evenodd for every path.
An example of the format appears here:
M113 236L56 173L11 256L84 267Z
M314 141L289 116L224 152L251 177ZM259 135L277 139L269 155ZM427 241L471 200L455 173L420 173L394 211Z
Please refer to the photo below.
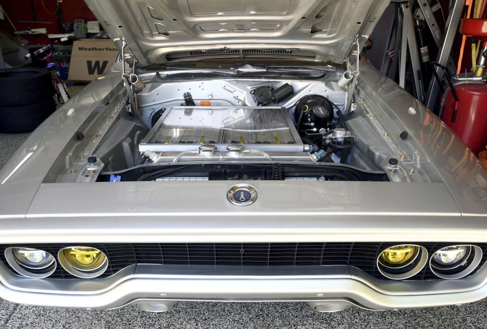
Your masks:
M49 255L52 260L50 260L47 264L43 264L42 266L36 267L32 264L25 264L23 263L16 255L14 250L15 249L23 249L23 250L38 250L41 252L45 252ZM5 259L10 267L17 272L18 274L32 278L32 279L42 279L50 276L56 270L57 263L55 257L42 249L37 248L28 248L28 247L8 247L5 249Z

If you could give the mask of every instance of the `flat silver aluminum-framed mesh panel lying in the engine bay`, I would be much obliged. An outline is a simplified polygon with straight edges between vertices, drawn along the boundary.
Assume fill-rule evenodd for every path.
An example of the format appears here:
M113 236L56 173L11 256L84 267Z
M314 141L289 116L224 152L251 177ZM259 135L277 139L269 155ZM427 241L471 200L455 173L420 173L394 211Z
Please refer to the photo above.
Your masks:
M280 107L181 106L172 107L158 120L140 150L186 151L197 150L201 144L241 144L257 149L266 145L263 151L291 146L294 149L282 151L299 152L302 143L297 137L289 115Z

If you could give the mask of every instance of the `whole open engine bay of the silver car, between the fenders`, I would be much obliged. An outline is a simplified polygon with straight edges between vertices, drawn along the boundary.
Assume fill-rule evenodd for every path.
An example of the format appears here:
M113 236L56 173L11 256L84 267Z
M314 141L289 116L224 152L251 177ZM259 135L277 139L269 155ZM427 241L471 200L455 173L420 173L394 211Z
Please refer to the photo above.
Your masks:
M338 86L338 76L193 79L138 71L135 111L130 97L118 94L99 126L105 130L93 130L87 147L74 146L80 158L54 181L73 181L73 171L79 182L384 181L389 172L408 181L388 162L395 145L357 96Z

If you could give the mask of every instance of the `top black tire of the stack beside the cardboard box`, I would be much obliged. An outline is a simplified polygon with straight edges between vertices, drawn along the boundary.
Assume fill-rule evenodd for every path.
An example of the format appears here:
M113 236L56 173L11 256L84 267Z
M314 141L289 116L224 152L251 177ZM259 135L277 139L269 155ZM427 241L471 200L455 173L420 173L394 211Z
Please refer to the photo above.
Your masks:
M0 70L0 104L27 105L47 101L54 95L50 72L26 67Z

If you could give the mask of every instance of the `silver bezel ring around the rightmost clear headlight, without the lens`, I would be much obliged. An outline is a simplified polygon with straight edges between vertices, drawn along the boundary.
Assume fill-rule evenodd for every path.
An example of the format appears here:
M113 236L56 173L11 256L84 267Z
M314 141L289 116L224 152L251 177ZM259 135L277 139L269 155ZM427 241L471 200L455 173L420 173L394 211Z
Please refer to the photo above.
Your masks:
M451 264L451 266L446 266L446 265L441 266L438 265L438 263L433 259L434 255L437 252L440 252L445 248L450 248L455 246L469 247L468 254L466 254L465 257L460 259L458 262ZM429 260L429 266L431 272L433 272L439 278L447 279L447 280L460 279L472 273L480 264L481 260L482 260L482 249L480 247L473 244L457 244L457 245L442 247L436 250L435 252L433 252Z

